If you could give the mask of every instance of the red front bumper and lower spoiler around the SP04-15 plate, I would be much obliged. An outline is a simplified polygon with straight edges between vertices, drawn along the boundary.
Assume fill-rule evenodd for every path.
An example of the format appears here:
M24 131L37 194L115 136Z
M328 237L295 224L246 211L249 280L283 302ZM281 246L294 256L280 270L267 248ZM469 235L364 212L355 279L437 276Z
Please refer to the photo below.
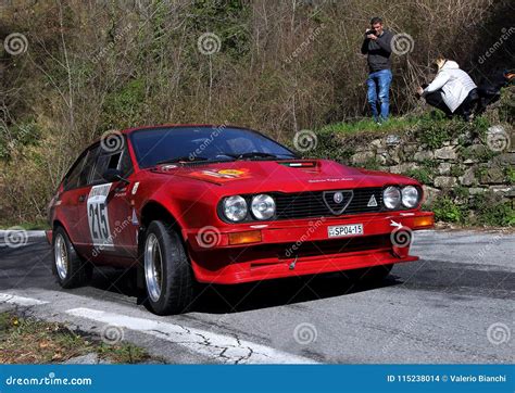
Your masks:
M329 226L351 224L362 224L364 234L328 238ZM394 236L432 226L432 213L416 211L209 227L208 242L205 227L184 234L199 281L239 283L417 261L409 255L411 239L399 244ZM260 231L261 241L230 244L229 236L242 231Z

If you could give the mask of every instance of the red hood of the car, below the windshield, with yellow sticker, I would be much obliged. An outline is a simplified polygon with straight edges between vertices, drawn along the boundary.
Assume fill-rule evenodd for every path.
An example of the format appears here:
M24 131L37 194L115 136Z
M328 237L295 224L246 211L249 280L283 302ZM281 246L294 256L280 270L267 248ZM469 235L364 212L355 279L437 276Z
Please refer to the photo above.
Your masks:
M328 160L165 164L153 172L208 182L219 186L224 192L238 193L417 185L404 176L349 167Z

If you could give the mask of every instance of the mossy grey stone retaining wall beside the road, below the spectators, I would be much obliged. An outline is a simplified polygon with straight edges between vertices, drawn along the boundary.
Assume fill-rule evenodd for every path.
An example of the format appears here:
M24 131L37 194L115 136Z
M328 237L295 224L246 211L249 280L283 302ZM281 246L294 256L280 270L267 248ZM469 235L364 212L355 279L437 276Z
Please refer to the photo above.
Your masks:
M348 164L415 177L424 183L426 201L461 188L467 198L491 191L515 202L515 138L508 127L490 127L483 137L469 132L430 149L413 135L389 134L354 147Z

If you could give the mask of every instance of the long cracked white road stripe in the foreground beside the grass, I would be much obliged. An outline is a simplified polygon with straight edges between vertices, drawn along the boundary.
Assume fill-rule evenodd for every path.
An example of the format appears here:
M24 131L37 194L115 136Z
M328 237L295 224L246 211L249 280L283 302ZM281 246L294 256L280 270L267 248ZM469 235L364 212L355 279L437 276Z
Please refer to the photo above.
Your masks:
M314 364L306 357L288 354L269 346L238 340L236 337L205 330L129 317L91 308L73 308L66 314L99 322L140 331L185 346L189 351L228 364Z

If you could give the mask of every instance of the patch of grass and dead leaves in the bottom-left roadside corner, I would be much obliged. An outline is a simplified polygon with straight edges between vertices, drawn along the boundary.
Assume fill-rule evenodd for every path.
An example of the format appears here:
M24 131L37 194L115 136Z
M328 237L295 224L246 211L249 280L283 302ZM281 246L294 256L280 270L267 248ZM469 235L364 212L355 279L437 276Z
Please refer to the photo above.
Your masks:
M129 343L109 345L61 324L0 313L0 364L62 363L90 353L112 363L134 364L150 358L143 348Z

